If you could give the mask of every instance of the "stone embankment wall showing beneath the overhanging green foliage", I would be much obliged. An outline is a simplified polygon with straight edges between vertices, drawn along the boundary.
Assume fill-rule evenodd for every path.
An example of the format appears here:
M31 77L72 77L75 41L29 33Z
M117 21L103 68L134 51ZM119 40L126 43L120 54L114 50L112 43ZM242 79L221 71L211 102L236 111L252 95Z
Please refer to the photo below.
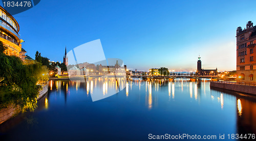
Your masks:
M42 87L42 90L39 92L39 96L37 97L37 100L39 100L41 97L43 97L48 92L48 84ZM0 109L0 124L3 122L11 119L15 114L18 113L16 110L17 108L10 104L6 108Z

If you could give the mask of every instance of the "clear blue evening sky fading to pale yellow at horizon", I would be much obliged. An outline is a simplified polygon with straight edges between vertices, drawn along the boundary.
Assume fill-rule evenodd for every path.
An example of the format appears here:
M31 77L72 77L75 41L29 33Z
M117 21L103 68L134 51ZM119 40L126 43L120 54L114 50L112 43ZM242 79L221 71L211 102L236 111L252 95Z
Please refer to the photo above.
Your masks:
M52 61L100 39L128 68L236 69L236 29L256 23L256 1L44 1L14 15L23 48ZM27 54L28 54L27 53Z

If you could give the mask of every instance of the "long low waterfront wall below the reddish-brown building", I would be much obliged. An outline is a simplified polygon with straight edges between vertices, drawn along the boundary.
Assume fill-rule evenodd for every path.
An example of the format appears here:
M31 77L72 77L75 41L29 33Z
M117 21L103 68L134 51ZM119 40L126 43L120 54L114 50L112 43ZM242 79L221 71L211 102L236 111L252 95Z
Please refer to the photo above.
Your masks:
M210 82L210 87L228 89L228 90L232 90L232 91L237 91L237 92L249 93L251 95L256 95L256 86L229 84L229 83L220 83L220 82Z

